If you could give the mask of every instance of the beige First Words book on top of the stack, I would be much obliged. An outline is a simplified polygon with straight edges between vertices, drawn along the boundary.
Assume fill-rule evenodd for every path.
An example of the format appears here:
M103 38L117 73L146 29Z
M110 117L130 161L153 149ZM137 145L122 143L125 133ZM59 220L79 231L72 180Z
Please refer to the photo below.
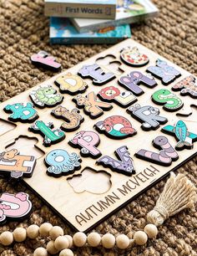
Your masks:
M45 0L44 14L53 17L115 18L116 0Z

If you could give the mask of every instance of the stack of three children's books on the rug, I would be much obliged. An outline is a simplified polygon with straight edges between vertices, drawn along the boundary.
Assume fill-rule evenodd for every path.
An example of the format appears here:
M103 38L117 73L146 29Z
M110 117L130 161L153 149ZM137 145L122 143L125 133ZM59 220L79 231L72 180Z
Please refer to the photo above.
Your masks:
M45 0L51 44L115 44L131 37L129 24L152 18L150 0Z

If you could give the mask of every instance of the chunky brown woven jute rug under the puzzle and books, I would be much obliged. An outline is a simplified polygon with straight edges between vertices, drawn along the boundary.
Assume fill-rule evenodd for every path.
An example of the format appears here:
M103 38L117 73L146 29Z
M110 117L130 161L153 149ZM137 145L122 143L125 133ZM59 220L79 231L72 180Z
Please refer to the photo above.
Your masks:
M132 28L133 38L153 49L158 54L197 74L197 1L196 0L154 0L159 7L159 17ZM50 46L48 44L48 18L43 16L42 0L0 0L0 100L7 100L14 95L48 79L53 74L36 69L29 57L39 50L46 50L57 57L63 69L88 59L107 45ZM3 141L0 141L3 143ZM179 168L197 185L197 158ZM159 182L127 207L101 223L95 230L98 233L125 233L132 238L136 230L144 228L146 215L153 207L164 187L166 180ZM56 216L49 207L22 185L14 185L0 179L1 192L28 192L33 202L33 213L23 223L7 223L4 230L40 225L50 222L60 225L65 233L73 234L68 225ZM197 208L196 208L197 209ZM195 210L196 210L195 209ZM12 248L0 248L2 256L33 255L38 246L46 246L48 239L26 240L14 243ZM169 218L159 227L157 239L145 246L134 247L128 251L105 250L104 248L79 248L74 253L83 255L197 255L197 212L184 210Z

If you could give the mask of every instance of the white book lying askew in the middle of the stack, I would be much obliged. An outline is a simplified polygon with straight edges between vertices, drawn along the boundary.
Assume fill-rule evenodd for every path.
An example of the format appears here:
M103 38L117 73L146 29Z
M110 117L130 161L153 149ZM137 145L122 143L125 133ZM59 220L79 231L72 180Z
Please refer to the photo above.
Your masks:
M116 18L114 20L71 18L71 21L78 29L78 32L83 33L110 26L137 23L146 18L153 18L159 12L158 8L149 0L117 0L117 3Z

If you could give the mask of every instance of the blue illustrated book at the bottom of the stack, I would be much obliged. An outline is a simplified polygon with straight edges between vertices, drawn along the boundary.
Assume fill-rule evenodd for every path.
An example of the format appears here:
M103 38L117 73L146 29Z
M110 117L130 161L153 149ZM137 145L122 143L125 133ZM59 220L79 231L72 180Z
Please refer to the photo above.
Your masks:
M78 33L68 18L50 18L51 44L116 44L131 37L129 25Z

